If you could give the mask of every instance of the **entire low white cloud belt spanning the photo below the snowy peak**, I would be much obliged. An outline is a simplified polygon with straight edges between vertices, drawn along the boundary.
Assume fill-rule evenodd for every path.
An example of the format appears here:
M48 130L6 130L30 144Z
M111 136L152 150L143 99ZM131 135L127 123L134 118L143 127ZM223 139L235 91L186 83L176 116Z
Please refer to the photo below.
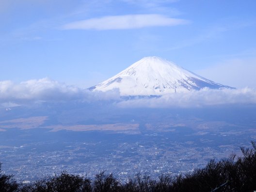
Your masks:
M91 92L48 78L20 83L14 83L9 80L0 81L0 105L2 107L41 101L80 101L91 104L103 101L120 108L186 108L225 104L256 104L256 90L251 88L204 88L189 93L173 93L161 97L135 97L128 99L121 97L118 90Z

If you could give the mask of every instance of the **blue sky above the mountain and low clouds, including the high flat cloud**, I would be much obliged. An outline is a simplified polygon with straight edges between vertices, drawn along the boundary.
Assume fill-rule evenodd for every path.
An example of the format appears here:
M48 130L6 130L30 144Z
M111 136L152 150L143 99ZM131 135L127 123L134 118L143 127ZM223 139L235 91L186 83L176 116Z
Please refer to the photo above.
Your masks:
M255 0L1 0L0 81L87 88L145 56L256 88Z

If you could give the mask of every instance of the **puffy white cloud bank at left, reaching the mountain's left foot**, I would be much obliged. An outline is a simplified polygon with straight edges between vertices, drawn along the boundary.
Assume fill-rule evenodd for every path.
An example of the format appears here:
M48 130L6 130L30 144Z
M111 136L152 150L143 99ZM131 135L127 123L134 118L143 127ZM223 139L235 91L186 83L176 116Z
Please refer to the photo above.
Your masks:
M10 80L0 81L0 106L2 107L43 101L68 102L74 100L81 102L118 101L120 95L118 90L106 93L91 92L49 78L20 83Z

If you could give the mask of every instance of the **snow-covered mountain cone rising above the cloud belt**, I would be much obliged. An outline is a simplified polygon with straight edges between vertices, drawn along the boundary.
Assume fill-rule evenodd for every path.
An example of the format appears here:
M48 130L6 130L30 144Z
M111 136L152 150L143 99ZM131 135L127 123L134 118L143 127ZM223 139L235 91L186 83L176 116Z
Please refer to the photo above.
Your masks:
M160 57L144 57L112 78L93 87L91 91L119 89L121 96L161 96L200 90L232 88L205 79Z

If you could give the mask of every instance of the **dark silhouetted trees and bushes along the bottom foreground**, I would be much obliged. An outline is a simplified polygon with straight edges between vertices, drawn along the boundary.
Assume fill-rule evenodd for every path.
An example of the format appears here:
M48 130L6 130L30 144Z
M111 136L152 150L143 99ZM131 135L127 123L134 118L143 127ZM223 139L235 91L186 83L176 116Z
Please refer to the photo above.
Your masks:
M256 142L241 147L242 156L210 160L205 168L191 174L161 175L158 179L137 174L120 183L112 174L101 172L94 179L63 172L61 175L17 183L13 176L2 174L0 192L253 192L256 191Z

